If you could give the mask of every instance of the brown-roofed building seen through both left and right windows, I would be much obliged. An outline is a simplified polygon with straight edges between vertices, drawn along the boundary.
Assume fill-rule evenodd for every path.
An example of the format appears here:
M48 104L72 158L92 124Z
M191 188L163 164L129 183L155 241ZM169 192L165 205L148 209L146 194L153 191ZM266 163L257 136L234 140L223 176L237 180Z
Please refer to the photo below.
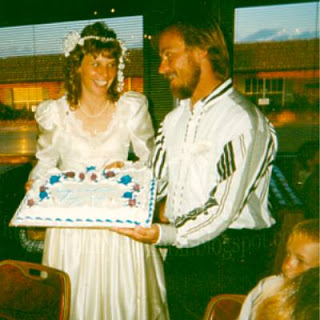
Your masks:
M319 39L240 43L233 56L235 87L266 112L318 107ZM142 49L129 50L126 91L144 91L144 59ZM62 55L2 58L0 71L0 104L32 110L64 93Z

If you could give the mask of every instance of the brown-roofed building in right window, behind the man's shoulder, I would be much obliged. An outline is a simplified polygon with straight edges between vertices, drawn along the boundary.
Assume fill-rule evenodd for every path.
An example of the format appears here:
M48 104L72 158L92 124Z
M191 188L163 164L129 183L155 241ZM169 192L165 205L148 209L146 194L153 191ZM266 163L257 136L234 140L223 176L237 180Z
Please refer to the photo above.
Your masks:
M317 107L319 39L234 46L235 87L267 111Z

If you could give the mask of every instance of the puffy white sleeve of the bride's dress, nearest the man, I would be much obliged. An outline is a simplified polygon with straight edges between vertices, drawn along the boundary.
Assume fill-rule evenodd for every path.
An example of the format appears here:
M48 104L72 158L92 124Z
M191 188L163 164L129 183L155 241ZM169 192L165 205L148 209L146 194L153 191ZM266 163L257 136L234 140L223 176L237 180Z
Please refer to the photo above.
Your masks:
M154 147L154 129L148 111L147 98L130 91L124 94L128 108L127 127L133 151L141 161L148 161Z

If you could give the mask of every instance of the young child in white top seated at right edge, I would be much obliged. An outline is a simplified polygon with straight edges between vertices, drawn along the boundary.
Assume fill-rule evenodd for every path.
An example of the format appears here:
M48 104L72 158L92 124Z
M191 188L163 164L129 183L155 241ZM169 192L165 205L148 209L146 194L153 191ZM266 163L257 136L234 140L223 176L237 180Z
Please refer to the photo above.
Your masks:
M287 242L282 273L258 283L245 299L238 320L258 320L257 310L265 299L276 295L287 281L310 268L319 267L319 249L319 220L304 220L295 225Z

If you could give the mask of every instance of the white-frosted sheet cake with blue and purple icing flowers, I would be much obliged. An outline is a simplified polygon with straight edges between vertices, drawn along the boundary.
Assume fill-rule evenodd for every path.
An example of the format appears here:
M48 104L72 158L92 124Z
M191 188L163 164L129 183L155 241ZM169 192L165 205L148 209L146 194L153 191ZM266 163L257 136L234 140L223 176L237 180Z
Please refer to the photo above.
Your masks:
M53 169L37 180L11 220L13 226L150 226L155 180L150 169L126 163L122 169L81 172Z

